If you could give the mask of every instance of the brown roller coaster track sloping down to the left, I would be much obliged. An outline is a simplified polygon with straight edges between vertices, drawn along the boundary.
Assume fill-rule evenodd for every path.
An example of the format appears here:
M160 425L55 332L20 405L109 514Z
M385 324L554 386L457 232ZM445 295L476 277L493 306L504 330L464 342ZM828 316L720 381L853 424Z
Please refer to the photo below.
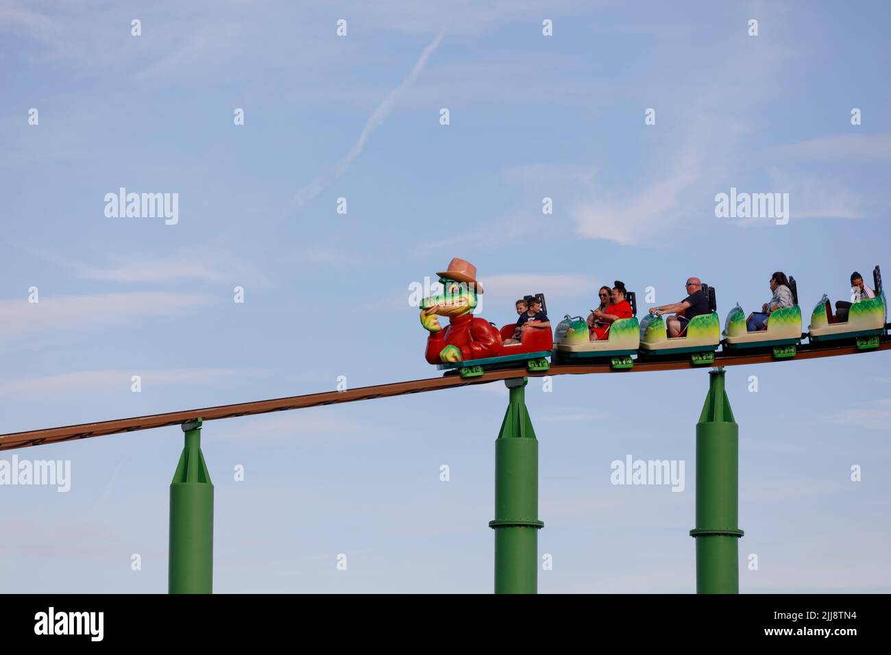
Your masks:
M752 355L736 355L725 352L715 353L715 366L740 366L745 364L765 364L768 362L796 362L801 359L814 357L831 357L839 355L854 355L876 352L876 350L891 349L891 337L882 336L879 340L879 348L872 350L858 350L854 345L822 346L815 347L808 344L799 346L797 355L791 359L774 359L771 353L757 353ZM184 423L200 417L204 421L216 419L229 419L235 416L251 416L259 413L283 412L290 409L303 409L305 407L318 407L321 405L337 405L339 403L354 403L359 400L371 400L372 398L385 398L390 396L402 396L405 394L422 393L424 391L437 391L439 389L452 389L454 387L468 387L477 384L486 384L499 380L508 380L519 377L543 377L544 375L585 375L588 373L643 373L648 371L676 371L690 368L708 368L697 366L689 359L684 360L643 360L636 361L634 368L625 371L614 371L609 364L555 364L548 371L528 372L526 368L507 368L497 371L487 371L477 378L462 379L456 373L446 373L441 378L428 378L426 380L413 380L405 382L393 382L391 384L379 384L373 387L359 387L344 391L328 391L325 393L308 394L306 396L290 396L274 398L271 400L257 400L250 403L237 403L235 405L219 405L217 407L205 407L203 409L190 409L181 412L168 412L151 414L150 416L135 416L128 419L116 419L114 421L102 421L95 423L81 423L61 428L48 428L45 430L29 430L27 432L12 432L0 435L0 450L12 450L13 448L26 448L40 446L42 444L55 444L61 441L72 441L90 437L104 437L121 432L133 432L135 430L151 430L170 425Z

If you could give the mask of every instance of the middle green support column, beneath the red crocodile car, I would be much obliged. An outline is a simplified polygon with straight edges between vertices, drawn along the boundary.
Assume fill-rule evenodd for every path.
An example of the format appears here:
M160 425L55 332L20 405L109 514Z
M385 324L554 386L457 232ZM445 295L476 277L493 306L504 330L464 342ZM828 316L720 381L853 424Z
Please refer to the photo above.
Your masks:
M495 440L495 594L538 592L538 440L526 378L505 380L511 398Z

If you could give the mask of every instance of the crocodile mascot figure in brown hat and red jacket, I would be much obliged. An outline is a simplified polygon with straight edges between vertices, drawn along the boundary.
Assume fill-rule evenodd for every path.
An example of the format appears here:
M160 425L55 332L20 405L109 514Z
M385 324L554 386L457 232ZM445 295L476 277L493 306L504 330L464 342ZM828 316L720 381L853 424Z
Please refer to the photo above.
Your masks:
M477 307L477 294L483 292L476 279L477 267L454 258L448 269L437 275L443 285L442 294L421 300L421 325L430 333L427 361L447 364L501 355L501 333L485 319L470 313ZM445 330L437 315L448 316Z

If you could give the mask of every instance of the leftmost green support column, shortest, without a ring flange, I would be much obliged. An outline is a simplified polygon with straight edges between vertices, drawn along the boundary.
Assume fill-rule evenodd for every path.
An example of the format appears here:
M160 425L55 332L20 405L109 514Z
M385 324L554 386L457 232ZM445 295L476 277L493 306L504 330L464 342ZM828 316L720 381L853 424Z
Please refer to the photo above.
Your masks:
M201 420L183 423L185 446L170 483L170 594L213 593L214 486L201 454Z

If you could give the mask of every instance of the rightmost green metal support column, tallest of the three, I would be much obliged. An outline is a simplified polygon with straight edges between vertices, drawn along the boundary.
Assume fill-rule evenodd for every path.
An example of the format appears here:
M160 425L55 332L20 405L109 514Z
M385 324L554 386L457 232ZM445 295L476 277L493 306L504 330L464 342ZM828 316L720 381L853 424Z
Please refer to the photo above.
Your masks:
M724 392L723 368L709 371L696 424L696 593L739 594L740 429Z

